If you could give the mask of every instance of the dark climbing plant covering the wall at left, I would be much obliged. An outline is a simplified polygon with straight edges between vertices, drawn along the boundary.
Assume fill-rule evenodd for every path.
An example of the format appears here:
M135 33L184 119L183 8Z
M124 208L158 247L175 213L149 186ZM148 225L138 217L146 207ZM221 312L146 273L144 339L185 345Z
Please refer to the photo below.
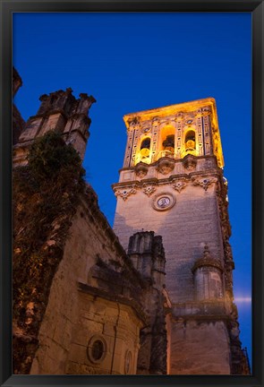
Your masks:
M81 158L61 133L32 143L13 171L13 373L28 374L49 289L85 191Z

